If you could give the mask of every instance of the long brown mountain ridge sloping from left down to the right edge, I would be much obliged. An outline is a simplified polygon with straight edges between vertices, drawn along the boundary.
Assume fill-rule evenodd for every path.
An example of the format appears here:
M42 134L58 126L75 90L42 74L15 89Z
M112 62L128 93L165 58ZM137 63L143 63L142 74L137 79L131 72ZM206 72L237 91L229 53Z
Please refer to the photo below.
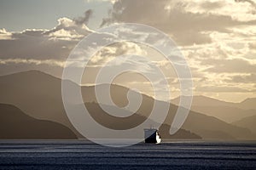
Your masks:
M28 115L38 119L59 122L69 127L79 137L79 132L68 120L62 104L61 79L52 76L49 77L47 76L48 74L41 71L29 71L29 73L22 72L22 74L15 74L17 74L15 75L15 78L14 75L4 76L4 80L3 77L0 77L0 91L4 94L2 97L0 96L0 103L2 102L17 105L22 109L22 111L26 111ZM13 83L17 84L17 82L19 82L18 86L13 85ZM73 82L68 83L70 83L71 86L76 86L76 88L78 88L77 84ZM83 86L80 88L83 94L84 103L96 101L96 95L94 94L94 90L92 90L93 87ZM104 88L103 85L102 88ZM129 88L116 85L112 85L111 88L113 93L113 102L118 106L127 105L128 100L126 94L129 91ZM152 110L154 99L147 95L142 95L143 103L140 109L137 111L137 114L148 117L148 114L150 114L150 111ZM166 117L166 121L164 122L164 124L166 124L168 127L171 126L173 116L177 111L176 105L170 105L170 111ZM201 126L201 124L203 124L203 126ZM224 128L222 128L222 126ZM248 133L246 128L236 127L229 123L214 119L211 116L196 113L195 111L189 112L189 116L182 128L201 136L203 139L250 139L253 136ZM210 131L212 136L207 135L207 132ZM224 135L224 133L227 135Z

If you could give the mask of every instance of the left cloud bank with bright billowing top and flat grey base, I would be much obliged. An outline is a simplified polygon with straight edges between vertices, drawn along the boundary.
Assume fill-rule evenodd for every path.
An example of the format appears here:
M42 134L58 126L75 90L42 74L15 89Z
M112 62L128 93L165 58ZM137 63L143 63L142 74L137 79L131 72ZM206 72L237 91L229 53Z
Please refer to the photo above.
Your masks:
M75 45L90 29L74 20L61 18L51 30L27 29L20 32L2 30L1 59L67 59ZM14 50L15 49L15 50Z

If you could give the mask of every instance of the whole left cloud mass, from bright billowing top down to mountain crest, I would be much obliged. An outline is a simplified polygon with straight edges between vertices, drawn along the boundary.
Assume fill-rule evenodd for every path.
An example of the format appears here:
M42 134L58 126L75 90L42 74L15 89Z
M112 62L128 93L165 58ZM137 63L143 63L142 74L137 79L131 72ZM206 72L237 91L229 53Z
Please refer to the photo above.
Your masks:
M10 32L0 29L1 75L40 70L61 77L65 60L77 43L91 31L85 24L60 18L52 29Z

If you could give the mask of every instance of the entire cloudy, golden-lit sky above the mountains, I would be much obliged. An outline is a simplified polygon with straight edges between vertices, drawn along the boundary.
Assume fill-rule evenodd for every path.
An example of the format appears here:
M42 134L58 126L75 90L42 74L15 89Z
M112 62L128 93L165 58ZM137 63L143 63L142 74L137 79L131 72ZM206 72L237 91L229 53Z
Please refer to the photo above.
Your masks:
M61 77L79 41L117 23L153 26L172 37L192 71L195 95L233 102L256 97L255 0L1 0L0 75L39 70ZM145 55L145 48L116 44L95 59L129 50ZM177 97L179 86L172 66L164 61L158 64L166 70L172 97ZM89 69L90 75L96 70ZM123 75L115 83L152 93L147 80L132 75L136 78ZM84 84L93 80L89 77Z

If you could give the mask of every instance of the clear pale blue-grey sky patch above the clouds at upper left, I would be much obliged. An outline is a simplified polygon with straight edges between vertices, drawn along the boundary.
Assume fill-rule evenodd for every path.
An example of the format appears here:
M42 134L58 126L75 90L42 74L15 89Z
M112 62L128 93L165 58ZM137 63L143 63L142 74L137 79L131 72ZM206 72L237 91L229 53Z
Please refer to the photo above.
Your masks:
M108 15L112 3L105 1L76 0L1 0L1 27L8 31L23 31L25 29L50 29L56 26L62 17L74 19L93 8L96 14L91 17L90 26L94 29L100 26L102 18Z

